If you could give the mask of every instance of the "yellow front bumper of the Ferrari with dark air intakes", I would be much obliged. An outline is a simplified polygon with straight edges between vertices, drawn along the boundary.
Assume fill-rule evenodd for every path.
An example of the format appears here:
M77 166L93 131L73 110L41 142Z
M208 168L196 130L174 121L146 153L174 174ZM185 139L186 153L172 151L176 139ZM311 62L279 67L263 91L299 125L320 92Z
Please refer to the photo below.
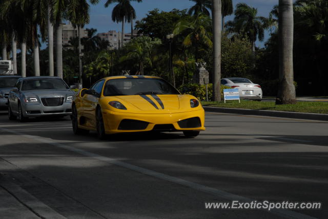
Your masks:
M201 108L197 111L181 112L181 113L163 113L163 114L139 114L139 113L124 113L124 112L113 112L108 109L103 109L103 119L106 134L115 134L115 133L131 133L131 132L148 132L155 130L155 125L173 125L174 129L172 131L185 131L185 130L205 130L204 127L204 109ZM187 121L187 119L194 118L198 120L199 126L197 127L188 127L181 126L181 121ZM145 127L142 129L129 129L122 128L122 121L140 121L144 122ZM179 125L180 124L180 125ZM186 123L187 124L187 123ZM163 126L161 126L163 127Z

